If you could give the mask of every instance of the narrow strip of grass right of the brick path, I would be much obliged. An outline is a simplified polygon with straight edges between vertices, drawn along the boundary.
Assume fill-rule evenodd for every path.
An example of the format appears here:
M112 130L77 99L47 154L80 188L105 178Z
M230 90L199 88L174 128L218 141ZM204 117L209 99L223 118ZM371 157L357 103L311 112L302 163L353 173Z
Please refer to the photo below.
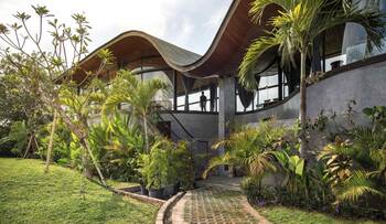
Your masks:
M258 207L257 211L272 224L386 224L365 220L341 220L323 213L285 206Z

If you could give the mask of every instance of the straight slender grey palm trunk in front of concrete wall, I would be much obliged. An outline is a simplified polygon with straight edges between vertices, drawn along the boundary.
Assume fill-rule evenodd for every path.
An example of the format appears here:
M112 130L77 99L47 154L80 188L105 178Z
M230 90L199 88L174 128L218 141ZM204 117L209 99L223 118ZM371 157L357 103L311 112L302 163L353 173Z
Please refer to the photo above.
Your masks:
M300 71L300 108L299 108L299 120L300 120L300 156L302 158L305 158L305 147L307 147L307 139L305 139L305 118L307 118L307 83L305 83L305 57L307 52L301 52L301 71Z

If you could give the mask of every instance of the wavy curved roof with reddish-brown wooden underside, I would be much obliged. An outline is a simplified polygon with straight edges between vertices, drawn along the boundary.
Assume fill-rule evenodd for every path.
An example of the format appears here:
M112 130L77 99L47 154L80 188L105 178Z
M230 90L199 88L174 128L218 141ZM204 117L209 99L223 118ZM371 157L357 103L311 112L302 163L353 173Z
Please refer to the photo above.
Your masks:
M201 56L140 31L128 31L95 50L81 62L83 71L93 71L99 64L97 52L109 49L117 61L133 61L135 55L160 55L172 68L194 77L235 75L250 42L262 35L266 26L250 22L251 0L234 0L207 52ZM270 7L264 18L277 9ZM261 24L265 24L262 22ZM139 57L139 56L138 56ZM137 57L137 60L138 60ZM77 72L76 76L84 76Z

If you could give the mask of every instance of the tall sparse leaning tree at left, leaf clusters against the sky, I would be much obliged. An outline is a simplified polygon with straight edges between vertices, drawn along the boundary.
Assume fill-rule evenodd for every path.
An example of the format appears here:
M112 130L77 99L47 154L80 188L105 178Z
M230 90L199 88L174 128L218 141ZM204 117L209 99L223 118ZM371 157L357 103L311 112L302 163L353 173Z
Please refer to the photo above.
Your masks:
M90 25L85 15L73 14L74 26L67 26L50 14L46 7L35 6L32 8L39 21L36 33L31 32L28 20L32 17L25 12L18 12L14 15L17 22L13 24L0 24L0 41L7 46L0 50L1 57L4 58L2 63L18 71L18 77L23 81L21 82L23 88L34 93L45 108L57 113L57 116L76 136L84 149L84 167L88 167L86 163L88 163L89 157L101 183L107 186L87 139L88 114L85 111L92 107L88 99L92 98L94 92L88 92L87 97L84 98L82 98L84 95L76 97L76 87L94 84L93 81L96 81L105 66L111 62L111 54L105 54L108 50L104 50L104 54L99 54L100 61L97 71L79 70L81 58L87 54L87 45L90 42ZM43 29L45 22L50 28L47 32L44 32ZM44 34L50 35L51 41L47 43L51 43L52 47L42 46ZM44 49L52 51L43 51ZM78 71L85 72L86 75L77 85L74 85L73 77ZM46 164L49 166L49 161ZM85 174L89 172L85 172Z

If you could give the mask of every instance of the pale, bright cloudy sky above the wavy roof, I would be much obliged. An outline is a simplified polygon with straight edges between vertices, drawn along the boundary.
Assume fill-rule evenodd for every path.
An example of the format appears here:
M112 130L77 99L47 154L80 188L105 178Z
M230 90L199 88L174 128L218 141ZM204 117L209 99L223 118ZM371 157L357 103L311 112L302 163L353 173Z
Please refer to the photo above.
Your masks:
M204 54L230 3L232 0L0 0L0 23L14 23L15 12L33 14L31 6L46 6L66 24L72 23L71 14L85 13L93 26L89 52L125 31L140 30ZM36 25L33 21L31 24Z

